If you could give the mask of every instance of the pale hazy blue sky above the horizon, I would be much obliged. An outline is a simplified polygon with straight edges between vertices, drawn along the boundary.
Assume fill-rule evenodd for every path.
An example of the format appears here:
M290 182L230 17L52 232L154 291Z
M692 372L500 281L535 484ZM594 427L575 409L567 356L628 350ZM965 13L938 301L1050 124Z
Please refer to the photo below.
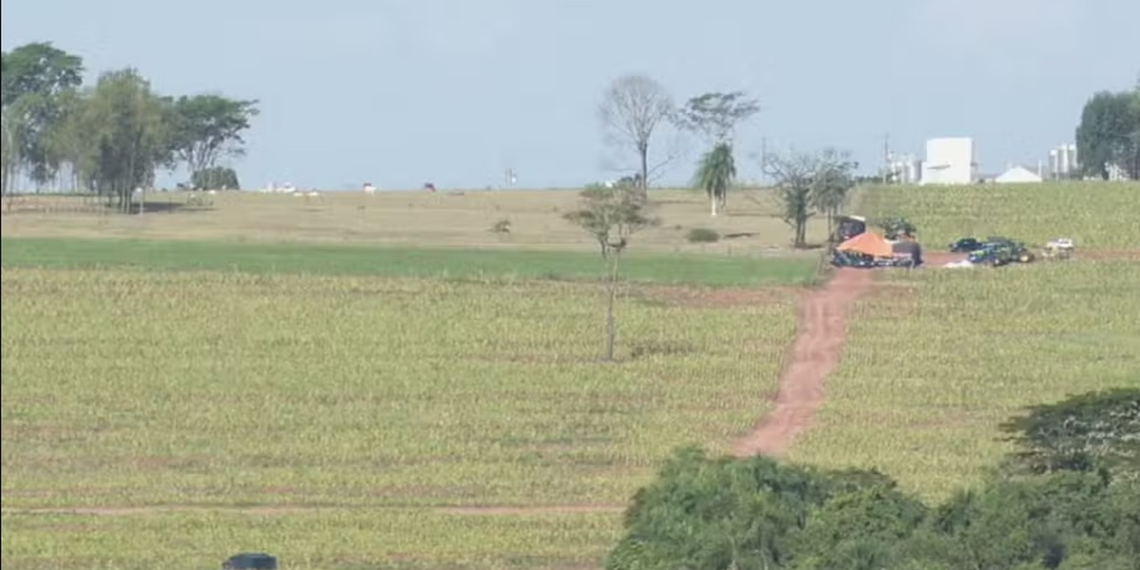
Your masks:
M627 72L678 100L758 97L746 177L762 137L870 170L887 132L913 153L972 136L997 171L1070 141L1088 96L1140 71L1137 0L5 0L0 22L3 49L52 41L92 79L136 66L165 93L260 99L247 187L611 178L594 112Z

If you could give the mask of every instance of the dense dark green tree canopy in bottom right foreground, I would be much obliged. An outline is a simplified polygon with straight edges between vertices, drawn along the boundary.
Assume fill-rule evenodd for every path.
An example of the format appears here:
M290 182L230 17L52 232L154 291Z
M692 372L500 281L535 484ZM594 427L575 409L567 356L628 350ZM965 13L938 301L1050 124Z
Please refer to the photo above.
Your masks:
M1140 390L1032 408L983 484L929 506L877 471L678 451L608 570L1137 570Z

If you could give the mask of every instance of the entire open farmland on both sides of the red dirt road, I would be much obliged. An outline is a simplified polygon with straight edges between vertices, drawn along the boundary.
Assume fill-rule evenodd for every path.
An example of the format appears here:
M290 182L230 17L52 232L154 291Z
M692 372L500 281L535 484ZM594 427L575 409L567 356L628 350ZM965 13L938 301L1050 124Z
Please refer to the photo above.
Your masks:
M1138 190L880 188L857 211L906 215L931 251L1002 234L1118 254L1140 250ZM674 446L727 451L772 409L804 298L788 286L817 261L781 251L769 195L715 221L699 195L657 196L620 365L595 359L601 267L561 219L571 192L234 194L124 218L28 198L0 256L5 567L268 549L304 570L597 568ZM702 247L693 227L741 236ZM1140 385L1140 262L1093 258L876 272L790 458L944 497L1025 406Z

